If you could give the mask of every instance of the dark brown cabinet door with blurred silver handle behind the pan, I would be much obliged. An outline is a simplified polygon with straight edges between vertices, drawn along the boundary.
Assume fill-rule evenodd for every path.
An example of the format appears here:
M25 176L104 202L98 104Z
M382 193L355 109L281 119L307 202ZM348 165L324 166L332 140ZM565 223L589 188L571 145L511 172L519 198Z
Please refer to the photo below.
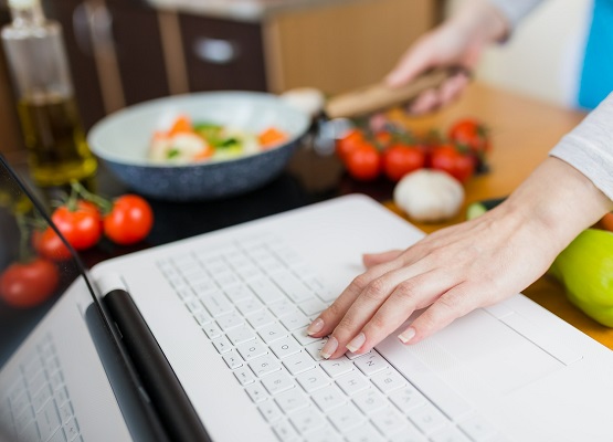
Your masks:
M198 15L180 15L191 91L265 91L262 28Z

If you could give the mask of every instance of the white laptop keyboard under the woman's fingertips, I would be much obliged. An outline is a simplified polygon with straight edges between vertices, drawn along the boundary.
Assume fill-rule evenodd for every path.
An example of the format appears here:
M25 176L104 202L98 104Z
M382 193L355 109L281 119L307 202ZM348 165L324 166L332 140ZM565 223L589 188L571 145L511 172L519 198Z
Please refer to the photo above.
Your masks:
M338 294L278 239L157 264L281 441L499 440L474 413L451 420L376 350L321 359L306 327Z

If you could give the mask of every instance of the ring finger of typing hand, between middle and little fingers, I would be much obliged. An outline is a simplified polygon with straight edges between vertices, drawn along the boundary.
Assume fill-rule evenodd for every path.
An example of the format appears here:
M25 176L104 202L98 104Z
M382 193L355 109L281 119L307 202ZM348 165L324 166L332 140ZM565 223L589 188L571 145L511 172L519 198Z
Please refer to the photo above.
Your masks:
M419 308L438 298L452 284L445 274L427 272L400 283L362 330L347 345L363 354L398 329Z

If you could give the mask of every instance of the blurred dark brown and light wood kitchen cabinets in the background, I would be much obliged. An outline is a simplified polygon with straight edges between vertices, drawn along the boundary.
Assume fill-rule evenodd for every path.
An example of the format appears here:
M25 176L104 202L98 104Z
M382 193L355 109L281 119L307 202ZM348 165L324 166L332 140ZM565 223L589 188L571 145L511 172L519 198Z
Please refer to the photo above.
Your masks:
M441 1L254 0L260 9L251 14L225 10L241 3L230 0L43 0L43 6L63 25L77 103L89 128L121 107L172 94L302 86L336 94L373 83L438 20ZM207 9L212 4L214 12ZM2 117L9 92L0 73ZM4 120L1 144L20 137L14 116L2 118L3 126Z

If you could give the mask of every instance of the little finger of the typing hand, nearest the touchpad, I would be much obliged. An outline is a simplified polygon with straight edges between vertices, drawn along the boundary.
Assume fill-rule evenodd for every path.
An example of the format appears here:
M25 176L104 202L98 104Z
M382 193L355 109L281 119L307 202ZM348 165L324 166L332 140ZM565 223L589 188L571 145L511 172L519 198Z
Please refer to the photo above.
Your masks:
M441 295L398 338L403 344L416 344L479 306L480 299L475 296L474 288L466 283L459 284Z

